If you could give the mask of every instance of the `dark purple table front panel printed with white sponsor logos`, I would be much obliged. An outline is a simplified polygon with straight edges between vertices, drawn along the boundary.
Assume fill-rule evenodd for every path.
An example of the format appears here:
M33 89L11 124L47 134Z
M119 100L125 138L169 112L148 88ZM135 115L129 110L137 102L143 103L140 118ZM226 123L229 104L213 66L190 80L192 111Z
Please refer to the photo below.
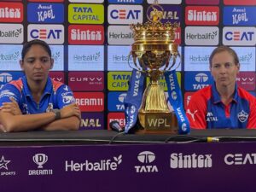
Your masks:
M255 148L246 142L1 147L0 190L254 192Z

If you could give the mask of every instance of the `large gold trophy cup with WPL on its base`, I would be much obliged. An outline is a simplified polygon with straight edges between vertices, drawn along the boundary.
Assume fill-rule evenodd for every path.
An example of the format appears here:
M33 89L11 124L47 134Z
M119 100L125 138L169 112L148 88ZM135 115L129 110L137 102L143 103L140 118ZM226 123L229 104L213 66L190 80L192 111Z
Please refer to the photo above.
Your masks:
M149 15L149 16L148 16ZM168 107L165 91L159 84L160 77L176 69L178 45L174 43L177 23L161 23L163 8L154 1L148 7L148 21L144 24L131 24L134 44L131 45L133 63L131 68L146 73L150 82L143 93L138 109L138 119L143 133L177 133L177 117ZM138 63L137 63L138 62Z

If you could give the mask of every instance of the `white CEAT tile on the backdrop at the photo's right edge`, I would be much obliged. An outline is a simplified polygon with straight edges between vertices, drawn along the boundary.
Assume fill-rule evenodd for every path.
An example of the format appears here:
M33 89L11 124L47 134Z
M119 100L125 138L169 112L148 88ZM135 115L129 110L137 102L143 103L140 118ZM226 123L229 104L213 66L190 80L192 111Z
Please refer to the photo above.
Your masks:
M225 45L255 45L255 27L229 27L223 28L223 44Z

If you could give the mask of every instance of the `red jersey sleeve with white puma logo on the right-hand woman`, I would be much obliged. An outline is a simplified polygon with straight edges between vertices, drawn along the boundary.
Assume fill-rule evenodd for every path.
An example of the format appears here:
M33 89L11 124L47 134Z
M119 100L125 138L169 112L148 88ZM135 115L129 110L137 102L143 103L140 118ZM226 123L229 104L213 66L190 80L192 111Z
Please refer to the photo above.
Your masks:
M200 92L195 92L189 101L186 115L189 125L194 129L207 129L207 99Z

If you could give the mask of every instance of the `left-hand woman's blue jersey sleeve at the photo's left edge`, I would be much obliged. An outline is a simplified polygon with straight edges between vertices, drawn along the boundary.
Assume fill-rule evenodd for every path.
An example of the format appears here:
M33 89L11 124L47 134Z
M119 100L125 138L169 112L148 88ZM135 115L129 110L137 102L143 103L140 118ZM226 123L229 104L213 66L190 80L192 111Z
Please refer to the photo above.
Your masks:
M13 84L5 84L0 90L0 106L3 106L3 102L11 102L10 97L13 97L20 104L20 96L20 90Z

